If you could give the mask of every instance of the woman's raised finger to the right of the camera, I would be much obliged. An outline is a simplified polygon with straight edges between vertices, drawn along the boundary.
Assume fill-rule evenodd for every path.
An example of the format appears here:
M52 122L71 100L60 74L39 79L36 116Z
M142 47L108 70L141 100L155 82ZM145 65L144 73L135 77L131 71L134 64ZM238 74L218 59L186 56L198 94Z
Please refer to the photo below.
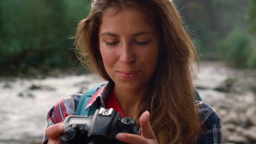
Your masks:
M145 111L142 113L141 118L139 119L139 124L141 125L141 136L146 139L156 140L154 131L149 123L149 112Z

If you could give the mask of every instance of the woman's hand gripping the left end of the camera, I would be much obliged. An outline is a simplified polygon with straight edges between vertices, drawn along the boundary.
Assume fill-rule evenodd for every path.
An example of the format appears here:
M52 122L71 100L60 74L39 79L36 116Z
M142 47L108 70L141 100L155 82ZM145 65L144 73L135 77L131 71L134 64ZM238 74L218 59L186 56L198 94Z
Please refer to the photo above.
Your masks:
M60 144L60 134L66 129L65 124L57 123L45 129L45 135L49 138L48 144Z

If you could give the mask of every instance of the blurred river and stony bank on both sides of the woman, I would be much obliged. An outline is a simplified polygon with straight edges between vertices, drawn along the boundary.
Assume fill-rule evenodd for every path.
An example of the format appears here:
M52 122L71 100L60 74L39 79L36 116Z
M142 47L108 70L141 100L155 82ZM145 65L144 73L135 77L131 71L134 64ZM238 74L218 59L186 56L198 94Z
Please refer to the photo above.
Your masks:
M79 73L55 70L42 77L1 77L0 144L40 143L51 106L67 95L104 83L96 75ZM201 62L195 86L222 118L226 143L256 142L255 81L253 70Z

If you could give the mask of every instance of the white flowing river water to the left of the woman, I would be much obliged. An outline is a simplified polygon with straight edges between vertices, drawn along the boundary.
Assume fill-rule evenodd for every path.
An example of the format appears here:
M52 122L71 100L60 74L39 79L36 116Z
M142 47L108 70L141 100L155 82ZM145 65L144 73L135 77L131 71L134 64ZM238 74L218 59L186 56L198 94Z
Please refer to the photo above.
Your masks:
M13 79L0 82L0 143L40 141L46 113L63 97L102 83L97 76L79 75L46 79ZM32 85L46 88L30 90ZM21 94L23 97L21 97Z

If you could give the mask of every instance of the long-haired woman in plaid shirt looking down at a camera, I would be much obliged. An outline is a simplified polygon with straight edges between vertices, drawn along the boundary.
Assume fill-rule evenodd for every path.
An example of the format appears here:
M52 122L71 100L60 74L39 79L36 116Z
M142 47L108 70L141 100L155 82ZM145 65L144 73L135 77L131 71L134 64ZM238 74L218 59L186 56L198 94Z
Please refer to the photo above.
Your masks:
M98 90L102 106L141 127L140 136L119 133L119 141L223 143L217 113L196 99L196 49L170 0L92 1L76 42L80 60L108 81ZM80 97L71 95L49 111L43 143L59 143L60 122L74 115Z

